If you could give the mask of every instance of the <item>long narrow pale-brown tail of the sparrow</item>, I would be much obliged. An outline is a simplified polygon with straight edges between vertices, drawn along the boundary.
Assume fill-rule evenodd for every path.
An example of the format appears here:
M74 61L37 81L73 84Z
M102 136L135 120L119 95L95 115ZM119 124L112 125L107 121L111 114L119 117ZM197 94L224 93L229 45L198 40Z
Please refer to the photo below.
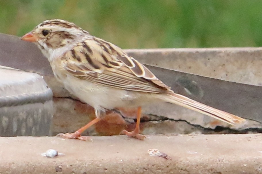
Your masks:
M164 95L160 95L159 98L161 100L164 100L166 102L177 104L180 106L183 106L185 108L200 112L202 114L211 116L213 118L216 118L218 120L224 121L229 124L236 124L244 122L244 118L240 118L236 115L230 114L228 112L212 108L211 106L207 106L205 104L199 103L195 100L192 100L188 97L182 96L180 94L170 94L169 97L166 97Z

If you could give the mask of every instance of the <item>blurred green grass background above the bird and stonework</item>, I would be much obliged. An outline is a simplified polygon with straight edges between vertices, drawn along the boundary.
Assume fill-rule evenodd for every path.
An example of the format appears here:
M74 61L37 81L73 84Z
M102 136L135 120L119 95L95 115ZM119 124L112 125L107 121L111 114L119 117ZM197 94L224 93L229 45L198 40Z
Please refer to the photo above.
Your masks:
M257 47L261 0L0 0L0 33L66 19L122 48Z

